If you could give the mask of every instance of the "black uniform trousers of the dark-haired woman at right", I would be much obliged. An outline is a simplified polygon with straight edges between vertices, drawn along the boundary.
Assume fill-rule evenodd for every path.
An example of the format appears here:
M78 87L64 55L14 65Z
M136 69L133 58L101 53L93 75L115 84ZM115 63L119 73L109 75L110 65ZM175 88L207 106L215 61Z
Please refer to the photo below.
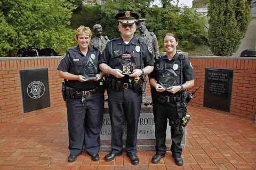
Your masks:
M185 115L185 107L181 104L182 114ZM153 99L153 114L155 121L155 137L156 137L156 152L159 155L164 155L166 152L166 128L167 128L167 119L169 120L169 124L171 126L171 138L172 145L171 151L173 156L181 156L182 148L181 148L181 140L183 137L183 129L182 126L179 126L177 130L177 126L175 126L175 122L178 120L178 112L177 112L177 104L175 102L164 104L159 103L156 99ZM173 123L171 123L173 122Z

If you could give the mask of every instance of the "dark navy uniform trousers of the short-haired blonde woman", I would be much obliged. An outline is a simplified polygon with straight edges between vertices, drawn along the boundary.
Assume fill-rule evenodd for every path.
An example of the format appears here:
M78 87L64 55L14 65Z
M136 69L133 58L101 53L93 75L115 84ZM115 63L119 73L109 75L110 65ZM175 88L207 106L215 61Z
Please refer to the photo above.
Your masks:
M98 154L103 109L104 94L101 92L86 96L84 106L82 99L67 99L70 155L81 154L84 140L88 154Z

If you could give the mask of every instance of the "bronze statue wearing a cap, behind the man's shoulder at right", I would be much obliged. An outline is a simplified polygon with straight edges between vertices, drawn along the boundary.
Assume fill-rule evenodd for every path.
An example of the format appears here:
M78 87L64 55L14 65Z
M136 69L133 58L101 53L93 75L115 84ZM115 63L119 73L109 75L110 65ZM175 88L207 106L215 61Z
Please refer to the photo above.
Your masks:
M135 36L135 38L136 39L139 39L140 37L143 38L143 42L147 43L148 46L153 50L155 59L158 59L159 47L158 47L157 38L153 32L148 31L145 21L146 19L140 19L136 21L137 28L139 29L140 33L137 36Z

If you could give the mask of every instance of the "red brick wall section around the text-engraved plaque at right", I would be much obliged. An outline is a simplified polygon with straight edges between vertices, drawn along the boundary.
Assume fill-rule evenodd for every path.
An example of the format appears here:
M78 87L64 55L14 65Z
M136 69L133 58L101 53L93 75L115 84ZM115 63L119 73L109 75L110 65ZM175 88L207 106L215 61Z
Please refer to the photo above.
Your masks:
M254 121L256 114L256 57L189 57L195 72L196 92L190 106L203 106L205 67L234 69L230 115ZM214 110L215 111L215 110Z

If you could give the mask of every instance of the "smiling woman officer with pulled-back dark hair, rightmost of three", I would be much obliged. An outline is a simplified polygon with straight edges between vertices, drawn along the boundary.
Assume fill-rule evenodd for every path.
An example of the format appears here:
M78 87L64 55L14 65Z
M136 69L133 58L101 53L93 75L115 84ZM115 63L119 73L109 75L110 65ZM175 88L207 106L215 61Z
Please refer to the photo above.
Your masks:
M167 119L171 126L171 152L177 165L183 165L181 140L183 129L180 120L186 115L186 89L194 86L194 72L189 60L178 55L178 40L172 33L164 36L166 55L156 62L150 74L153 87L153 113L155 121L156 154L152 162L157 164L165 156Z

